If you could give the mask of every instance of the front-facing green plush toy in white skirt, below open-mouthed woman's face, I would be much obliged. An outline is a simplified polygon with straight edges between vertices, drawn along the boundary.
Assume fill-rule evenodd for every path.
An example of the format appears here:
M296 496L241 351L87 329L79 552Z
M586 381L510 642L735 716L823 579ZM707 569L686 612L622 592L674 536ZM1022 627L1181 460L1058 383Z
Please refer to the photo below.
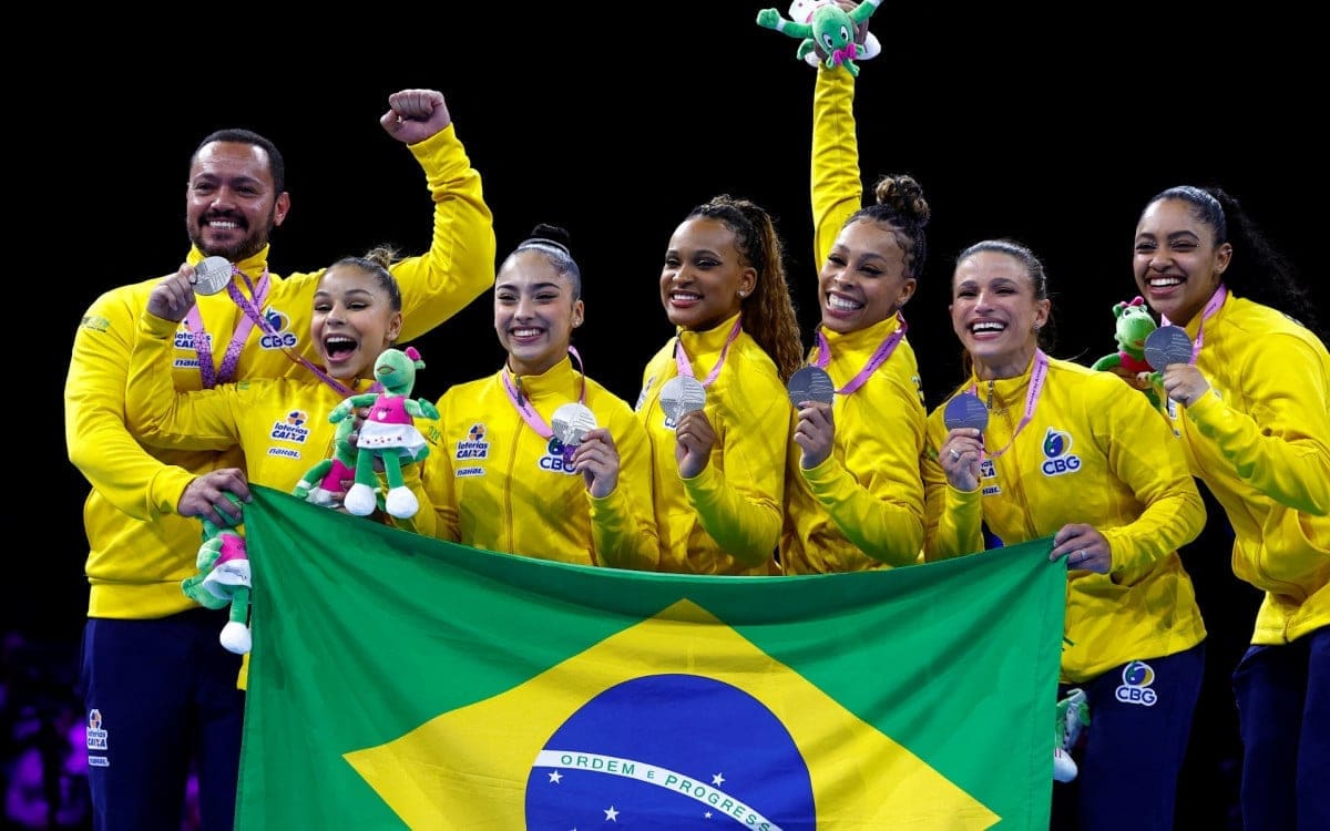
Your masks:
M352 395L332 408L329 420L334 424L348 417L356 407L370 408L370 415L360 424L356 435L355 484L346 492L343 507L356 516L368 516L378 507L375 485L378 485L374 463L383 463L388 480L388 492L383 509L398 519L415 516L420 508L411 488L402 477L403 459L407 463L420 461L430 453L424 436L416 429L412 419L438 419L439 411L430 402L411 400L415 386L415 371L423 370L424 362L415 347L384 350L374 362L374 376L383 392L362 392Z

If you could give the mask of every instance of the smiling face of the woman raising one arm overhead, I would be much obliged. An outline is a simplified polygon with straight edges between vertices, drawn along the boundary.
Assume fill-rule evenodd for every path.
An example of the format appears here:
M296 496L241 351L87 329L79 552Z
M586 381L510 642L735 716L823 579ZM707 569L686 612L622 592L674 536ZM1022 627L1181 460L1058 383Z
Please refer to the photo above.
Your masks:
M880 323L904 306L915 286L915 278L906 277L895 230L872 219L851 222L818 273L822 326L853 332Z

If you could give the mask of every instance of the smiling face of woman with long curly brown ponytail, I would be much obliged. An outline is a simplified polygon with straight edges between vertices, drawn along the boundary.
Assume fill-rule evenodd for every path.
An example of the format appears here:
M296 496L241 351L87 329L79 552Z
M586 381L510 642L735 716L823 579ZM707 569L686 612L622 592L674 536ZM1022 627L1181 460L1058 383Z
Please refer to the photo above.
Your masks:
M738 314L757 283L757 269L743 262L734 243L734 231L720 219L680 223L661 270L661 303L670 323L706 331Z

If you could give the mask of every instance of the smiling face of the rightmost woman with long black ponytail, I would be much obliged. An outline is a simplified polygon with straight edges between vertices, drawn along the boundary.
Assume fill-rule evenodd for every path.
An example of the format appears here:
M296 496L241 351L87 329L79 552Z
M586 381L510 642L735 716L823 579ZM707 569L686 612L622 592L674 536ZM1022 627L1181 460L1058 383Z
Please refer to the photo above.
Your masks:
M1178 326L1201 314L1233 257L1229 243L1214 245L1214 229L1184 199L1160 199L1145 209L1133 251L1141 297Z

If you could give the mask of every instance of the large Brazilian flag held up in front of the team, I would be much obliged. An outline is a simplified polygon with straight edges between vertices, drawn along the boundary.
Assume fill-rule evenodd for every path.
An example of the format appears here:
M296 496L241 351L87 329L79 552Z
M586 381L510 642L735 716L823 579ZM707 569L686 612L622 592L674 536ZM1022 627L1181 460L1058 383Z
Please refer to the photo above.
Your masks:
M254 488L237 827L1045 830L1065 566L681 576Z

